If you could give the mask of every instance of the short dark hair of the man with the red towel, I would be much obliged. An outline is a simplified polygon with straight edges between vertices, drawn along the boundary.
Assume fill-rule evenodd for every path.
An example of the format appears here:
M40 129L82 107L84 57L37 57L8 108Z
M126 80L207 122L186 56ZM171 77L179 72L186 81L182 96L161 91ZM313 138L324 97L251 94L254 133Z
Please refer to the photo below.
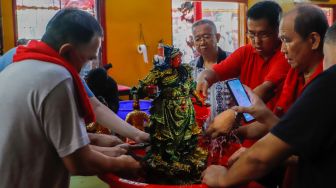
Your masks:
M91 14L76 8L65 8L48 22L42 41L59 50L65 43L85 44L94 36L103 37L103 29Z

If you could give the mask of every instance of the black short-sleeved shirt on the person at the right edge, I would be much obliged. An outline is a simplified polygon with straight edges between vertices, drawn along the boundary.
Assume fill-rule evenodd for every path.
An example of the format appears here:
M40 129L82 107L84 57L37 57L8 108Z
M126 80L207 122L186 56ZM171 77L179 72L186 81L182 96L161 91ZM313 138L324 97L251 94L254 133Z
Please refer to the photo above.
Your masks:
M299 156L295 187L336 186L336 65L309 84L271 133Z

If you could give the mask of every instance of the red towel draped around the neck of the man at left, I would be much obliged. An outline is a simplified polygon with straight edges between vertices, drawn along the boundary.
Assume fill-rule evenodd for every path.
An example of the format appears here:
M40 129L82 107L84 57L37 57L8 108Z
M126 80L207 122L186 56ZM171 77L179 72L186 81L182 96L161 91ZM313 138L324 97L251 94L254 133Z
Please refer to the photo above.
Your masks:
M75 89L79 98L81 109L79 109L81 116L84 118L85 123L95 121L95 115L87 93L85 92L81 78L79 77L76 69L61 57L54 49L49 47L44 42L32 40L27 46L19 46L16 49L16 54L13 57L13 62L21 62L23 60L34 59L48 63L54 63L66 68L74 81Z

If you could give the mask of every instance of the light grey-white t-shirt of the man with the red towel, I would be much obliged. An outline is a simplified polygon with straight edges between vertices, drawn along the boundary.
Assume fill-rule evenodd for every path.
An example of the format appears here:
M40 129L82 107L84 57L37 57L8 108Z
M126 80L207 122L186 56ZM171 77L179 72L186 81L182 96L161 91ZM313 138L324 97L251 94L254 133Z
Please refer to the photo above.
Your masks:
M61 66L28 61L15 63L0 74L0 187L67 187L69 172L59 155L74 149L71 137L79 136L82 145L88 138L74 135L80 126L62 125L68 118L83 124L74 96L63 100L52 91L68 87L71 95L72 78ZM58 104L75 108L58 120L53 115L61 112L50 113Z

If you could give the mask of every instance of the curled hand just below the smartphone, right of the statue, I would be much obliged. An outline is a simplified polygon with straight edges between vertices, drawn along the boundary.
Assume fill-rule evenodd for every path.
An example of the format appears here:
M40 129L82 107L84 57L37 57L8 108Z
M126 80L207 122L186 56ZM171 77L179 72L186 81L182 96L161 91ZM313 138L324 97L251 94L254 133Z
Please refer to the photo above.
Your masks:
M216 138L220 135L229 133L235 123L236 114L237 112L231 109L225 110L224 112L220 113L210 124L206 133L212 138Z

